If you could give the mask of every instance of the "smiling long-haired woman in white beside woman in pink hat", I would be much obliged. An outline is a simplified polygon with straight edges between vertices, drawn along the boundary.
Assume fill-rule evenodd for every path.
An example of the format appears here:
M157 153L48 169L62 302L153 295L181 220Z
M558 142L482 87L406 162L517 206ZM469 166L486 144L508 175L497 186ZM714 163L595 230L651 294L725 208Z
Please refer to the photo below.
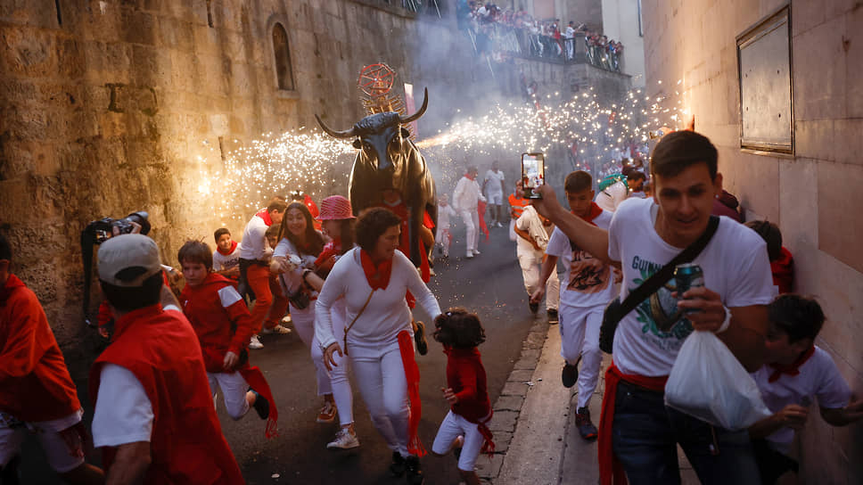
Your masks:
M317 292L305 281L308 277L306 270L315 266L315 260L324 249L324 243L324 234L316 231L308 207L301 202L292 202L284 210L279 243L273 251L270 271L279 275L284 296L291 301L294 330L306 347L311 349L312 361L316 367L317 395L324 396L324 407L321 407L316 421L333 423L336 406L330 374L326 371L320 347L312 344L315 337Z

